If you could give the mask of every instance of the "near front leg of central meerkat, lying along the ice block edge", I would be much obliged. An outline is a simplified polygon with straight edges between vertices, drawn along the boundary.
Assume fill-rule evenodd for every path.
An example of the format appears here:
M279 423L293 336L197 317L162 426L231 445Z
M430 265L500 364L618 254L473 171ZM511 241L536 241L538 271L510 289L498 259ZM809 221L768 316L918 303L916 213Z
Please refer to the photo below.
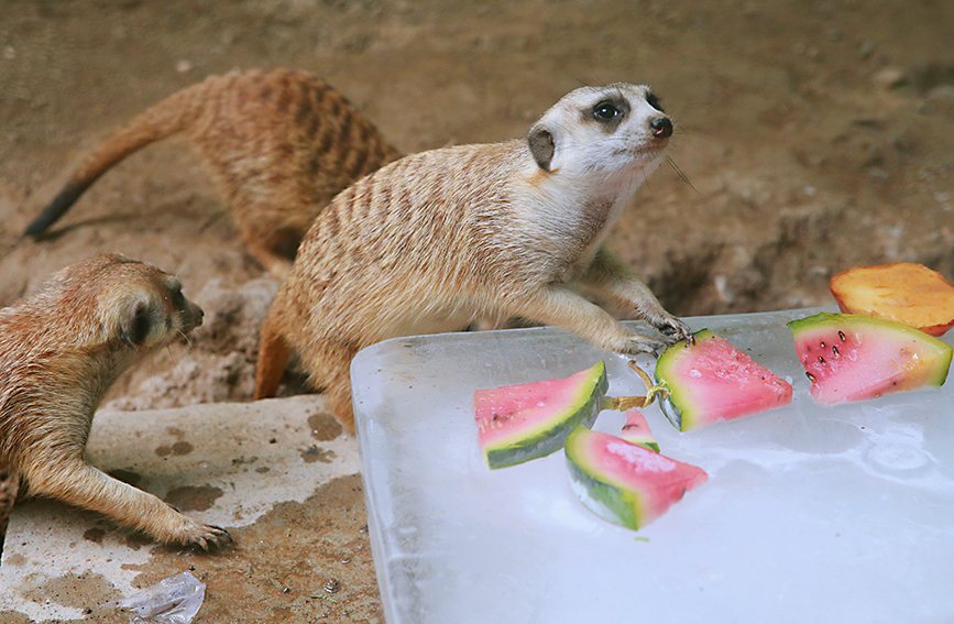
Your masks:
M525 295L507 313L562 327L607 351L651 353L666 347L660 340L627 330L603 308L562 284L547 284Z

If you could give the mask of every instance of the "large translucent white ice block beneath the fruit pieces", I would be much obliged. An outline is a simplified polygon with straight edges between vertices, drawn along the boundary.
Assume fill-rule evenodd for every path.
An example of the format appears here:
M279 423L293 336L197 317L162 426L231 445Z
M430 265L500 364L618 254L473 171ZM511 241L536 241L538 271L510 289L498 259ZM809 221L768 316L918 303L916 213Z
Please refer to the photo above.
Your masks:
M626 357L551 328L359 353L355 416L387 622L954 622L954 382L821 407L785 325L812 311L689 319L793 380L793 402L686 434L644 409L662 452L710 480L638 533L583 507L561 451L489 470L472 407L478 388L601 359L611 396L644 394ZM637 361L653 370L649 357ZM595 428L618 435L624 423L604 412Z

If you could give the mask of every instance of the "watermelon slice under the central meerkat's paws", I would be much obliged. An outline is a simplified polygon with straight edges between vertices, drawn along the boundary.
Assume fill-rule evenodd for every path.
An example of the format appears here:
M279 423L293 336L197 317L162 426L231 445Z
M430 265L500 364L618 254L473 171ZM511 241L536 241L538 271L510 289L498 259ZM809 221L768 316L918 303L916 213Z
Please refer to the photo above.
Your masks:
M791 403L791 384L708 329L695 344L671 344L656 362L669 391L662 412L681 431L758 414Z

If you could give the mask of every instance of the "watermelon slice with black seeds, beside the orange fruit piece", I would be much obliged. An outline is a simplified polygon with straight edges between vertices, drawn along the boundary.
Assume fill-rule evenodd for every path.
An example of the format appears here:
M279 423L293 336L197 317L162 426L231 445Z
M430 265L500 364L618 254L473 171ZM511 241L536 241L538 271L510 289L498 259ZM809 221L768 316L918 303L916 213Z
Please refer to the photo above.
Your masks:
M899 322L821 313L788 326L821 405L940 386L951 368L951 346Z

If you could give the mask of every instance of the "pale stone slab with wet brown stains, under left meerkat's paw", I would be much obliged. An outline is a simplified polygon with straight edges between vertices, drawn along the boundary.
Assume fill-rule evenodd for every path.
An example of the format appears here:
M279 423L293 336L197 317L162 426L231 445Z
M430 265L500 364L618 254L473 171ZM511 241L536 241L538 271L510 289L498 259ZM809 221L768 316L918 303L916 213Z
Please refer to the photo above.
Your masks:
M151 584L146 580L155 574L140 576L156 556L171 559L173 568L180 567L169 569L169 576L222 558L248 558L239 563L265 569L267 561L256 561L256 557L267 557L268 548L243 544L241 527L255 524L281 503L303 503L322 485L353 475L360 468L354 438L342 434L340 425L324 410L322 398L314 395L178 409L101 412L94 422L87 456L94 466L169 501L197 519L229 528L237 545L212 556L177 552L91 512L56 501L20 502L11 516L0 561L0 587L4 588L0 616L20 614L34 621L95 617L103 602ZM360 491L360 482L354 483L350 489ZM348 521L360 526L365 522L363 505L360 497L355 500L361 510L349 504L340 513L349 514ZM281 523L277 526L276 533L282 532ZM359 534L358 528L351 528L347 539ZM276 539L284 537L276 535ZM372 583L370 552L365 555L364 577ZM208 579L212 593L215 580Z

